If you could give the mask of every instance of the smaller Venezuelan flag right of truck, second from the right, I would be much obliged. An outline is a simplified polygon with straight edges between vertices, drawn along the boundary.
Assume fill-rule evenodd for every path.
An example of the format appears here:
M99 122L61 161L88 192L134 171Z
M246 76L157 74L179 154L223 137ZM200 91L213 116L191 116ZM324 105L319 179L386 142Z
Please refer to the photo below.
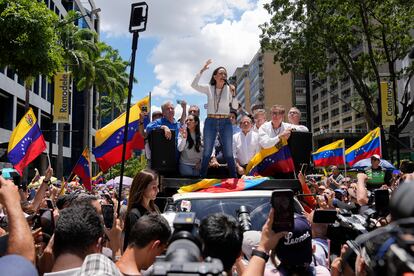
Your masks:
M338 140L312 153L315 167L341 165L345 163L345 140Z

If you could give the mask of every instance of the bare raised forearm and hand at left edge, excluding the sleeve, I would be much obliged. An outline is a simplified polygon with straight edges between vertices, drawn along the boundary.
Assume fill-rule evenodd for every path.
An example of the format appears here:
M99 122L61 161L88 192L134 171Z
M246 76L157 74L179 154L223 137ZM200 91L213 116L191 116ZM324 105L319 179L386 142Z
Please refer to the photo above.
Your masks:
M0 203L6 208L8 217L9 241L7 254L20 255L34 262L34 240L20 205L17 186L12 181L5 180L2 176L0 176Z

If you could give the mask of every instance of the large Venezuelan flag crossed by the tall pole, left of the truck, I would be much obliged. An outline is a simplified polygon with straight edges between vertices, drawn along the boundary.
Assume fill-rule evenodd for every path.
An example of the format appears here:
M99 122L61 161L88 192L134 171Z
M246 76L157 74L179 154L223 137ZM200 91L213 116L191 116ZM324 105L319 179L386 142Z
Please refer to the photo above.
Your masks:
M144 137L141 136L138 128L141 108L148 104L149 96L146 96L130 109L125 160L131 157L132 150L144 148ZM93 149L93 154L103 172L122 161L125 117L124 112L110 124L96 131L96 147Z

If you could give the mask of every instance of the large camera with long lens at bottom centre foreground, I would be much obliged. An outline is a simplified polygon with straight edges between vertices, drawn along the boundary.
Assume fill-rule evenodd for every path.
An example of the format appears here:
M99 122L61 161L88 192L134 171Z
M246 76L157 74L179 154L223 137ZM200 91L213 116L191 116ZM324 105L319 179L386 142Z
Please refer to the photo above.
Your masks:
M176 213L173 227L167 252L157 257L152 275L222 275L223 264L219 259L201 261L201 240L194 212Z

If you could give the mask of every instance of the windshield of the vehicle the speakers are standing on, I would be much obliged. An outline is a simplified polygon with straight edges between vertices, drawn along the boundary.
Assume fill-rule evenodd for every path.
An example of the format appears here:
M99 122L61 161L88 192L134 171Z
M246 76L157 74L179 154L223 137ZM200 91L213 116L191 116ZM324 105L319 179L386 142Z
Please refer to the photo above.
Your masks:
M191 203L188 204L188 201ZM262 230L270 211L270 197L240 197L240 198L197 198L189 200L177 200L178 212L190 211L196 213L196 218L202 220L204 217L214 213L225 213L237 219L237 210L241 205L247 207L250 212L252 223L251 230ZM191 206L191 207L188 207ZM295 212L300 213L301 208L295 201ZM189 209L189 210L188 210Z

